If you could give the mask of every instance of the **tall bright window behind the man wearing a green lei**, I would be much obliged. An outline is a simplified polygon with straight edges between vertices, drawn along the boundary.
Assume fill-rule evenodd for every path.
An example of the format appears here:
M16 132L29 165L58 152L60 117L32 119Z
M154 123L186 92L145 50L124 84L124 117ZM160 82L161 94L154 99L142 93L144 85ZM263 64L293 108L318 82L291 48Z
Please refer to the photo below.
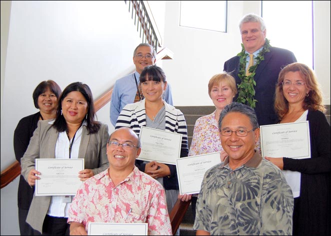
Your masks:
M271 46L292 51L296 60L313 69L312 1L261 1L266 37Z

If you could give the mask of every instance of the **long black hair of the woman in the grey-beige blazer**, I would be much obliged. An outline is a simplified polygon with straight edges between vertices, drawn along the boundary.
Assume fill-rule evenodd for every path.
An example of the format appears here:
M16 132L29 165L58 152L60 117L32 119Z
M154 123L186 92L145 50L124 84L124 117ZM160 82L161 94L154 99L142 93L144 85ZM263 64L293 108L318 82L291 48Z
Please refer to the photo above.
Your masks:
M78 91L80 92L87 101L87 130L88 133L96 133L100 128L100 122L94 120L95 111L94 111L94 101L92 97L92 92L89 86L82 82L73 82L67 85L64 90L62 91L56 109L56 117L53 123L53 126L59 132L63 132L66 130L66 121L64 116L61 114L62 110L62 101L67 96L69 92Z

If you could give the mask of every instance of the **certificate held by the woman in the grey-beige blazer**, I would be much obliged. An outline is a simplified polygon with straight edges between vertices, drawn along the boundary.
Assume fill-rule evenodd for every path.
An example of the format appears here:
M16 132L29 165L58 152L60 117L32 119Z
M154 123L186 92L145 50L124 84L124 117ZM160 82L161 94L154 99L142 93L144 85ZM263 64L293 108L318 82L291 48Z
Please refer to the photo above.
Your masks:
M82 183L78 172L84 169L84 159L37 158L35 169L40 172L36 196L75 195Z

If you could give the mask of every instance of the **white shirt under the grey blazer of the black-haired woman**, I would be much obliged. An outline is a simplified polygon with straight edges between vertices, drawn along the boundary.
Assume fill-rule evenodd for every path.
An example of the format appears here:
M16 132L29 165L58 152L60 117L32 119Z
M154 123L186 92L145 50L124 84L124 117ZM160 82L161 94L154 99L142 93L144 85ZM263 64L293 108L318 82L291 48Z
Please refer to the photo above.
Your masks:
M86 120L84 120L82 125L86 125ZM78 158L81 133L82 133L82 126L78 128L76 134L74 135L73 143L71 146L70 158ZM69 138L66 135L65 131L60 132L58 134L55 144L55 158L69 159L69 147L71 142L72 142L72 138L69 141ZM78 177L78 173L76 174ZM71 199L72 198L73 196L71 196ZM47 214L56 217L68 217L70 204L71 203L63 202L63 196L51 196Z

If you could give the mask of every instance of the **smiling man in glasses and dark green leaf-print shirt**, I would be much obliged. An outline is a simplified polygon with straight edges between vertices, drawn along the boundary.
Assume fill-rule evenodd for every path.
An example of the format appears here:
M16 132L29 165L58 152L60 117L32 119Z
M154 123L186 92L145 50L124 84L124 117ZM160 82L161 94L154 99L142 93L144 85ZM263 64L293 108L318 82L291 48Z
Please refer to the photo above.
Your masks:
M228 156L204 174L196 235L291 235L292 191L281 170L254 150L254 109L232 102L221 111L218 127Z

